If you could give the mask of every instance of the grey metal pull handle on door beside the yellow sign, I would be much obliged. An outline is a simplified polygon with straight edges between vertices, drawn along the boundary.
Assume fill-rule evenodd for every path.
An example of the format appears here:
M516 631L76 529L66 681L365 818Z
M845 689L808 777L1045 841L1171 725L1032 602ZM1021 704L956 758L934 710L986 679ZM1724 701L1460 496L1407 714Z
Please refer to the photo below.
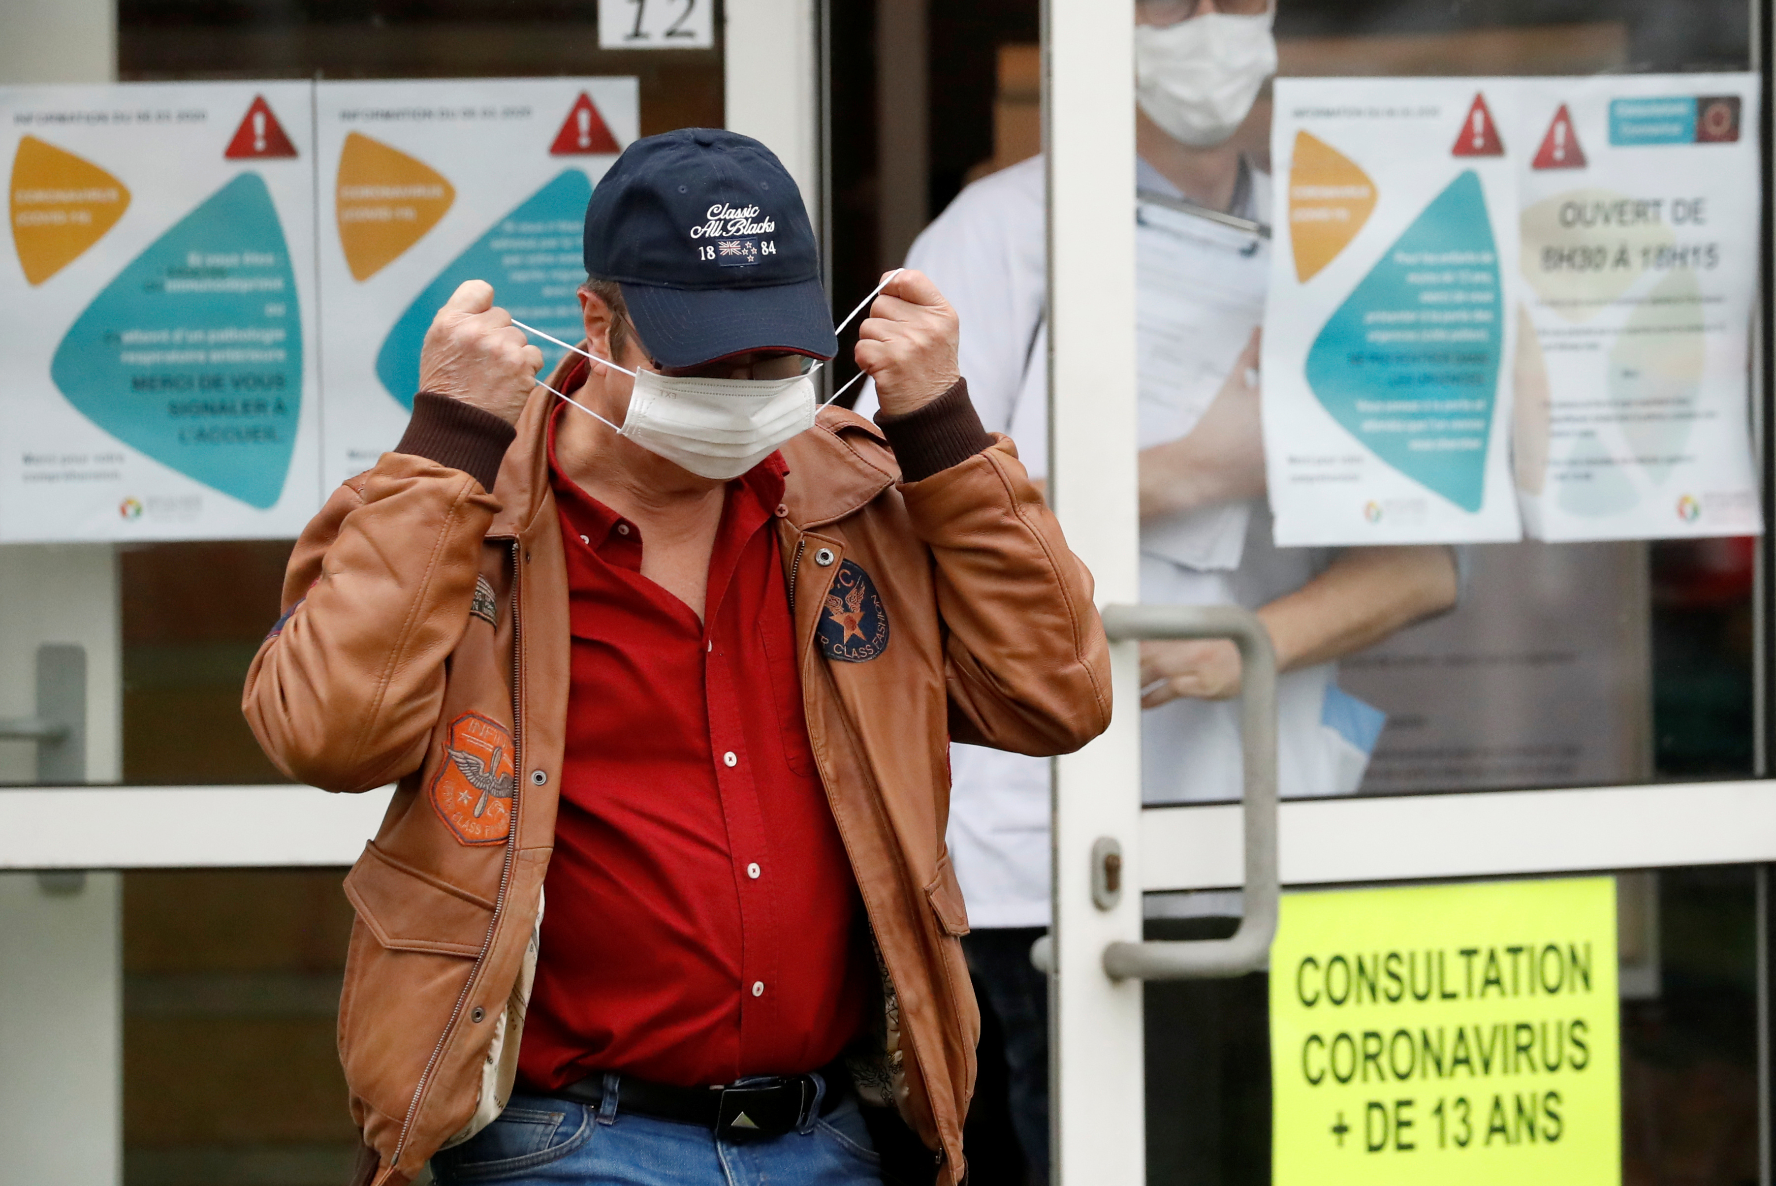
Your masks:
M1277 652L1265 623L1238 605L1106 605L1105 634L1130 639L1229 639L1240 648L1240 740L1245 774L1245 913L1231 939L1112 943L1115 980L1243 976L1270 959L1277 936ZM1135 886L1138 890L1138 886Z

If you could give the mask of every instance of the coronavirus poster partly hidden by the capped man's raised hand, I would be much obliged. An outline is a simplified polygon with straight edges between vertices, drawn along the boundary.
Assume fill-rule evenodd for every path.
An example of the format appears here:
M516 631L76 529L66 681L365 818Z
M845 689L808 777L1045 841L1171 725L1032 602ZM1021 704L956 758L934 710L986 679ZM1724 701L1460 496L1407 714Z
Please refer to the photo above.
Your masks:
M586 201L639 135L639 91L634 78L339 82L316 87L314 110L330 488L400 440L426 328L464 281L579 341Z

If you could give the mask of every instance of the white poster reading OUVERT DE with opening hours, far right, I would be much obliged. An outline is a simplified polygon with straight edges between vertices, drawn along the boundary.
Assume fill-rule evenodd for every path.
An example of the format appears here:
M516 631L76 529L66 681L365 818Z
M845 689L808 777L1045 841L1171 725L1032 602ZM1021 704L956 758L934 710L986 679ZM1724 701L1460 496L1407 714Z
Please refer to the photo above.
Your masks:
M1756 75L1527 80L1517 485L1542 540L1762 531Z

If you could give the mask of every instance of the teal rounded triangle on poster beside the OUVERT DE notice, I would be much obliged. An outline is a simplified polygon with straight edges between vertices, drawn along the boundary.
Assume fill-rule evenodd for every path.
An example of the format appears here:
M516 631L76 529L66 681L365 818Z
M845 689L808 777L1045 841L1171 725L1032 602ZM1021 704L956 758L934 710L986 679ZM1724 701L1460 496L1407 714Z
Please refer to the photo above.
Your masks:
M1487 195L1467 170L1320 330L1307 385L1378 458L1479 511L1502 311Z

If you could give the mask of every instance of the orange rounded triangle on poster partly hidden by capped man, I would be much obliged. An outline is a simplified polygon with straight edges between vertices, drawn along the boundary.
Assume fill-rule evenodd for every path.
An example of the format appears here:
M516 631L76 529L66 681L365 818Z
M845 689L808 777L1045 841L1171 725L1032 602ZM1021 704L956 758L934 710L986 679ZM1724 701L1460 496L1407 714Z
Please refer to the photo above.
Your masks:
M435 169L357 131L339 151L334 217L352 279L368 281L424 238L456 201Z

